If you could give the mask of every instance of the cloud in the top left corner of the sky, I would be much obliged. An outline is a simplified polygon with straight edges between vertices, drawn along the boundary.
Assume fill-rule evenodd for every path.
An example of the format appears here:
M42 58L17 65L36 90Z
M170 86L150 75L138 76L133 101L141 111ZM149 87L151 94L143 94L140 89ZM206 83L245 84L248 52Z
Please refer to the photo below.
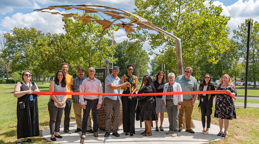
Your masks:
M40 6L36 2L32 3L29 0L1 0L0 13L13 12L14 8L39 9Z

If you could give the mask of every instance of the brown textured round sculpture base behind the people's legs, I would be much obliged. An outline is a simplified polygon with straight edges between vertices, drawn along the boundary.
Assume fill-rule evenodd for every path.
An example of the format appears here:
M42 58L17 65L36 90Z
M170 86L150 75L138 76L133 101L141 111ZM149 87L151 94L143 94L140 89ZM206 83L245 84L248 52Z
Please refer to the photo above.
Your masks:
M106 113L104 110L104 106L103 106L103 102L104 102L104 97L102 98L102 104L100 109L98 110L98 128L100 130L105 131L105 117L106 117ZM92 111L91 111L92 113ZM93 120L93 115L91 114L91 118ZM111 115L111 130L113 129L113 122L114 122L114 115L113 115L113 111L112 111L112 115ZM122 125L122 103L120 101L120 122L119 122L119 127Z

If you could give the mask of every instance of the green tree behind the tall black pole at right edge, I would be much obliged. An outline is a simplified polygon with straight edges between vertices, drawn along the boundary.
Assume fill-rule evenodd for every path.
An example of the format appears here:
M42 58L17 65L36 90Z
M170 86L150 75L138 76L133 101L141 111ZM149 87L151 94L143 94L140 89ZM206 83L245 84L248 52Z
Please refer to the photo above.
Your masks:
M254 81L254 87L256 86L256 80L259 77L259 24L257 21L254 21L252 18L246 19L244 23L238 25L237 30L233 30L232 39L235 40L236 45L239 50L239 56L242 63L246 63L246 50L247 50L247 31L246 26L247 22L251 21L254 23L250 28L250 44L249 44L249 66L248 66L248 75L249 79Z

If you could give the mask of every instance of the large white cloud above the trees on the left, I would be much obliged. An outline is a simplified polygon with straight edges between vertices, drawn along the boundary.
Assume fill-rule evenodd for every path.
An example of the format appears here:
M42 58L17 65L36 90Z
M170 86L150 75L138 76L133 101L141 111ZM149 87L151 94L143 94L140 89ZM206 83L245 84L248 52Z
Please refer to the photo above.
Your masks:
M8 16L5 17L0 25L9 30L14 27L34 27L43 33L65 33L62 29L64 25L62 16L49 14L47 12L32 12L30 14L17 13L11 18Z

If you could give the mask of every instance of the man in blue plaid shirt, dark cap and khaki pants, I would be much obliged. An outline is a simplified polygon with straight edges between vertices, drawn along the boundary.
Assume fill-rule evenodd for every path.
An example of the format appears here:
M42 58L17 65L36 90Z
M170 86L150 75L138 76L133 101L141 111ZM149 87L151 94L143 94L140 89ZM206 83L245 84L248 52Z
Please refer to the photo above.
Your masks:
M83 68L79 68L77 70L77 74L78 77L73 79L73 85L71 90L73 92L80 92L80 88L81 88L81 84L83 82L83 80L86 79L85 77L85 70ZM73 109L74 109L74 113L75 113L75 120L77 123L77 129L75 130L75 132L80 132L82 131L82 106L81 106L81 102L79 100L79 95L72 95L72 101L73 101ZM91 116L89 114L88 120L87 120L87 130L86 132L90 132L93 133L94 130L92 130L92 123L91 123Z

